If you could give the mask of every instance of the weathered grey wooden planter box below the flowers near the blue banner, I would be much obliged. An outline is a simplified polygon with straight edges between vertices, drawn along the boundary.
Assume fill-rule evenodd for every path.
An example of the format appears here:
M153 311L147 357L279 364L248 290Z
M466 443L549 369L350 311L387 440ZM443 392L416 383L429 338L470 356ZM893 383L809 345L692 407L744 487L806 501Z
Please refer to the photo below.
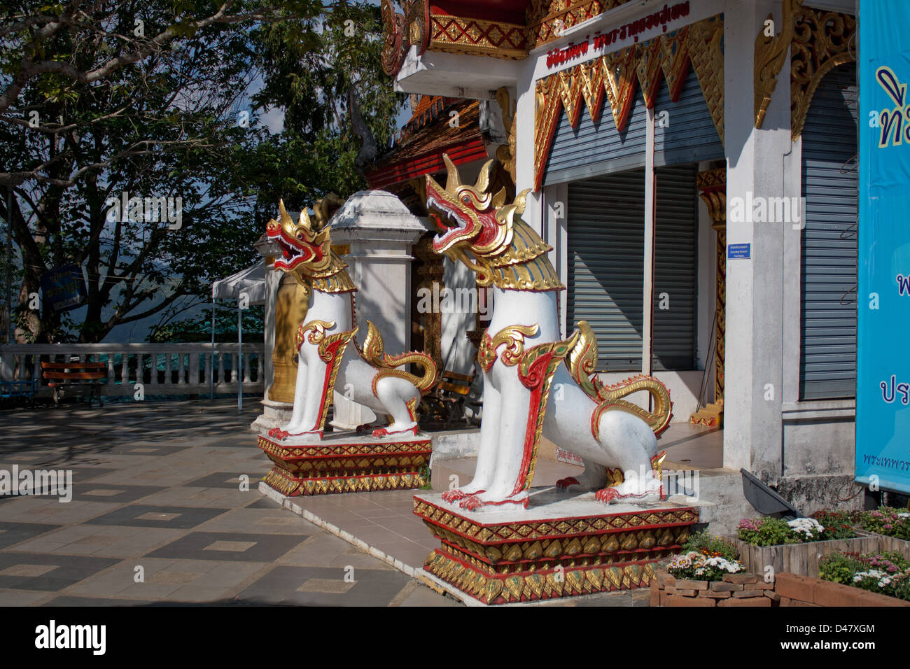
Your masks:
M859 532L857 532L859 533ZM818 560L829 552L875 552L883 550L879 535L858 536L854 539L838 539L828 542L783 543L776 546L753 546L738 538L731 538L740 552L740 562L747 572L763 574L767 566L774 573L795 573L801 576L818 577ZM906 542L905 542L906 543Z

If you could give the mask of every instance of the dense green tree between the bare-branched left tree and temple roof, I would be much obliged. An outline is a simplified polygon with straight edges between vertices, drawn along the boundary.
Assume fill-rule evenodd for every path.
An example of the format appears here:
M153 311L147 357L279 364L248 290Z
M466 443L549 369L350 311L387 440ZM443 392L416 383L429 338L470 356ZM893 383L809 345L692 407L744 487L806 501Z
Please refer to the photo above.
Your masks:
M254 99L285 112L283 132L258 147L265 220L278 198L299 209L329 192L347 198L367 187L355 165L363 138L352 127L349 94L379 147L389 146L405 102L382 71L382 31L379 6L367 2L264 27L257 50L264 84Z

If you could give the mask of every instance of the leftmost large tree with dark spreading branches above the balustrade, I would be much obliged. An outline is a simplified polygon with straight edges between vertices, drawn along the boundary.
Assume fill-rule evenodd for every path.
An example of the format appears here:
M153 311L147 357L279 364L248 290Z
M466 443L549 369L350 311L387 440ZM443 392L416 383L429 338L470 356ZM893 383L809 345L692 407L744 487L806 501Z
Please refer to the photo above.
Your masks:
M322 10L317 0L133 0L2 10L0 184L22 260L17 340L66 337L66 320L28 309L47 269L87 275L87 313L68 334L183 309L210 280L252 258L244 184L265 137L240 118L262 27ZM245 127L247 126L247 127ZM179 221L112 220L123 194L172 198ZM151 218L155 218L154 216ZM177 227L177 222L179 227Z

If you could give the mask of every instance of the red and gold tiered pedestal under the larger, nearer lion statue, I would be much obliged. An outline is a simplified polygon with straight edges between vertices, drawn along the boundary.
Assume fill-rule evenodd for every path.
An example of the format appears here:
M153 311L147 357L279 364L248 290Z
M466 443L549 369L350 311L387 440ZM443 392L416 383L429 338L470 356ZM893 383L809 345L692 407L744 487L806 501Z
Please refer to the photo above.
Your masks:
M590 498L590 499L588 499ZM532 498L533 499L533 498ZM440 494L414 496L414 513L442 542L423 570L485 604L609 593L651 582L678 552L698 510L594 502L592 493L509 512L465 512Z

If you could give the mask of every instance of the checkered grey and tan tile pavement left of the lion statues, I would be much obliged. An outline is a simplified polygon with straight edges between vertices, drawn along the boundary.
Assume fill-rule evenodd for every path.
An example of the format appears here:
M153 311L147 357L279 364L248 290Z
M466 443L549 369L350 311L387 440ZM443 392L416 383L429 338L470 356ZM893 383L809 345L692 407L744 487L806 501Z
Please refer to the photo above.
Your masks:
M0 497L0 606L460 606L263 498L235 400L0 412L0 471L72 472L72 499Z

